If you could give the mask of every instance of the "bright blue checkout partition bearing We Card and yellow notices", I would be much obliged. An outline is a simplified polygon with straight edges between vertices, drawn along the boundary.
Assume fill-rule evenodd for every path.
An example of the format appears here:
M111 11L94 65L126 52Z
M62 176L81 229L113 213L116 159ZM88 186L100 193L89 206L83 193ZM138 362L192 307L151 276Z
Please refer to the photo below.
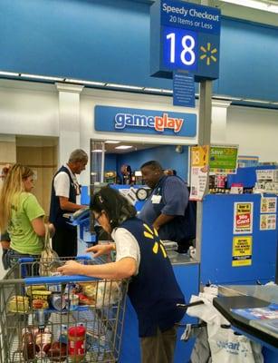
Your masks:
M254 202L252 265L232 267L234 203ZM277 230L260 231L260 194L206 195L203 202L201 283L249 283L274 280ZM237 234L246 236L250 233Z

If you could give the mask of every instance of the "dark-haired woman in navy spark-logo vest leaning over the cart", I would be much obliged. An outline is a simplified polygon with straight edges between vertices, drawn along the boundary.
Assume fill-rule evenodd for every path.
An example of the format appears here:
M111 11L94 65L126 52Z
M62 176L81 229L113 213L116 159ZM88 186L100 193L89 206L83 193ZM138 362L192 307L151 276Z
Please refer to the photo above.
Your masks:
M185 299L158 232L136 218L135 208L110 187L92 197L91 209L115 243L96 245L88 251L97 257L116 250L116 261L101 265L68 261L58 271L111 280L132 277L128 294L139 320L141 361L171 363L177 338L175 323L184 315L177 303Z

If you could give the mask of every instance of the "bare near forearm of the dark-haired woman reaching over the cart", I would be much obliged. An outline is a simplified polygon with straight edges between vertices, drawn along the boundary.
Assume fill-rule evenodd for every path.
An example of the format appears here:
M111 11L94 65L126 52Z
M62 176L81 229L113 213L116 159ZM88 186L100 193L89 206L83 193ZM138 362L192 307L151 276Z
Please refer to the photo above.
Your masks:
M137 264L136 260L130 257L100 265L81 265L81 263L70 260L57 270L62 272L62 275L85 275L100 279L120 280L133 276L136 273Z

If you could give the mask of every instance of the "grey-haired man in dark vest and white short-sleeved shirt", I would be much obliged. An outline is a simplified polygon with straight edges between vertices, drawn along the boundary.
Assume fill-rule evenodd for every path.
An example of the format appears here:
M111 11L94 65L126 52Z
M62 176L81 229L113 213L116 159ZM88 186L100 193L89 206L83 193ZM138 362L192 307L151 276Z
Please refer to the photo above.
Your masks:
M77 229L63 217L64 213L78 211L84 206L76 203L80 185L76 174L80 174L88 162L88 155L81 149L74 150L69 162L53 177L49 221L55 226L53 250L61 257L76 256Z

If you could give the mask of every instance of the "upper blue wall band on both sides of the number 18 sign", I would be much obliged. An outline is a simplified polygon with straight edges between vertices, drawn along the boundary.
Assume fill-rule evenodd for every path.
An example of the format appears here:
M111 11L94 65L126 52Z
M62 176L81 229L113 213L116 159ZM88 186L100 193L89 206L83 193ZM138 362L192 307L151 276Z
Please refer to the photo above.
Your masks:
M150 77L149 4L1 0L0 70L172 88ZM278 99L278 28L224 18L214 92Z

